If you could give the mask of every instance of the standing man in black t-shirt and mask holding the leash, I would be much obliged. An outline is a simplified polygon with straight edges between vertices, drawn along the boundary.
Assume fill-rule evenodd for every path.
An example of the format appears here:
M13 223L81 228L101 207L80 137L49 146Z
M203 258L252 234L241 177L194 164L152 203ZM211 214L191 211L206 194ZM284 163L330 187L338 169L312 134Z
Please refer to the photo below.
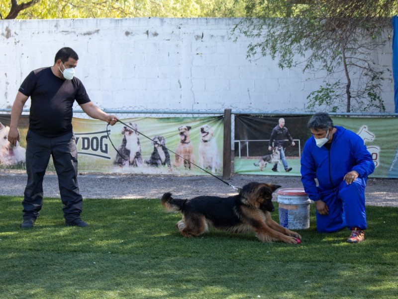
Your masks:
M18 122L30 97L29 130L26 135L27 184L22 201L22 228L33 227L43 204L43 177L52 156L58 174L66 225L88 226L80 218L83 197L77 182L78 159L72 132L75 100L90 117L114 125L117 118L91 102L82 82L74 77L78 54L64 47L55 55L54 65L30 72L22 82L11 109L8 141L19 140Z

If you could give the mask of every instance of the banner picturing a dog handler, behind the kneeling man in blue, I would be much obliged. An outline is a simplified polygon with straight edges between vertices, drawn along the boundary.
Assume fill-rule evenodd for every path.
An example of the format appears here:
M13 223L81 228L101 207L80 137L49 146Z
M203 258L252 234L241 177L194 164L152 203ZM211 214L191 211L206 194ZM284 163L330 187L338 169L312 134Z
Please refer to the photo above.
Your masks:
M286 172L282 161L270 161L273 152L268 149L273 128L281 117L235 116L235 173L259 175L301 175L300 157L305 142L311 136L307 123L311 116L283 117L295 146L289 142L285 150L286 160L292 170ZM357 133L364 141L375 163L370 177L398 177L398 141L395 128L397 118L332 117L336 126L342 126ZM268 158L268 159L267 159ZM277 163L275 171L273 166Z

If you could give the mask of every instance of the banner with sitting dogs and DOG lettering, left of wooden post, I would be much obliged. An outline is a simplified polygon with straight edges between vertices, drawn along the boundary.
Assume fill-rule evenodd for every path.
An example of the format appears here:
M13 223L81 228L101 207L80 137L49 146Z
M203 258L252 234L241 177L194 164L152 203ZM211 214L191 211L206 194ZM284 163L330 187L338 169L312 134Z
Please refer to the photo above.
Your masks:
M97 120L73 118L79 172L206 175L222 174L223 117L133 118L114 126ZM7 134L9 116L0 117L0 134ZM27 118L20 122L19 148L26 148ZM1 135L1 136L2 136ZM8 148L6 139L2 148ZM113 144L113 146L112 146ZM14 148L15 151L15 148ZM183 157L186 159L183 159ZM24 168L23 161L9 161L1 150L0 167ZM55 170L50 161L48 170Z

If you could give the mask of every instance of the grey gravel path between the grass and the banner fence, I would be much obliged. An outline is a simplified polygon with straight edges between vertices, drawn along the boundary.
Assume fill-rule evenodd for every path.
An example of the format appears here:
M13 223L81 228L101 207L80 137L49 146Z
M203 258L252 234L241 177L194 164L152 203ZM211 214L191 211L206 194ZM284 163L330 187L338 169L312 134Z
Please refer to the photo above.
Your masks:
M21 170L0 169L0 195L23 196L26 174ZM84 198L160 198L164 192L190 198L198 195L233 195L235 190L212 176L150 176L130 174L80 174L80 191ZM299 176L233 175L233 186L251 181L279 184L283 188L302 187ZM398 207L397 179L370 178L366 187L366 204ZM44 177L44 195L59 197L58 178Z

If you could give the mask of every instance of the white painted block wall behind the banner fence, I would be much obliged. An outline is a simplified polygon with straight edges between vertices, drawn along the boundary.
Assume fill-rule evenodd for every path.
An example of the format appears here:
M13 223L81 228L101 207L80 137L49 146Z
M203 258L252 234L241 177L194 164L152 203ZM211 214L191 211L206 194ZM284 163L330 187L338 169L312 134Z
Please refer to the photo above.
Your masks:
M125 18L0 21L0 108L20 83L51 66L63 46L79 54L76 76L104 109L305 111L319 74L246 59L248 40L230 39L235 18ZM391 46L375 53L390 68ZM383 94L394 112L392 75ZM27 102L26 108L30 106Z

